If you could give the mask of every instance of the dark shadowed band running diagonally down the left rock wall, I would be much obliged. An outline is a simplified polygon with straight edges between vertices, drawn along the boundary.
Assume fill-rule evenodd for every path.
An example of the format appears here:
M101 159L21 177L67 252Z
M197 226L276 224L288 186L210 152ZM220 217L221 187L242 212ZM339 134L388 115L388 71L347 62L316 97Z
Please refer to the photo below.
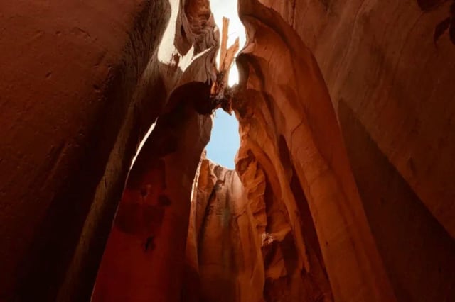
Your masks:
M161 18L151 18L151 15ZM132 28L137 36L130 36L125 45L124 62L112 67L106 82L99 87L102 100L97 101L100 105L90 116L87 129L80 130L71 164L65 167L68 171L65 174L70 177L63 179L63 186L55 192L46 216L36 230L31 248L24 257L26 260L19 267L20 279L12 301L55 301L59 293L71 301L90 301L98 265L137 142L162 106L165 95L162 83L151 85L156 101L149 99L147 104L141 104L144 105L142 111L134 112L132 132L121 133L122 125L129 118L128 108L132 106L135 81L141 74L139 69L147 67L170 16L168 1L151 1L137 17ZM146 51L138 55L137 50ZM143 116L145 112L146 117ZM121 162L116 163L122 171L105 175L109 154L122 135L127 137L127 146L118 159ZM97 185L103 177L109 179L104 184L105 198L103 204L95 205L103 210L91 221L96 228L92 228L89 237L81 238L87 214L94 206ZM83 252L75 255L79 243ZM73 257L78 257L77 263L70 268ZM63 285L65 288L62 288Z

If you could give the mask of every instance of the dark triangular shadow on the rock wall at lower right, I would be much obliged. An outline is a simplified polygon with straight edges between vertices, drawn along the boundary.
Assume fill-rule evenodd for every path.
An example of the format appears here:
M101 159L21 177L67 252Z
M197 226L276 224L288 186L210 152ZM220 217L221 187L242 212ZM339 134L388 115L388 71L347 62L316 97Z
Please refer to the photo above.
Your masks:
M338 108L365 213L398 301L455 301L455 242L348 105Z

